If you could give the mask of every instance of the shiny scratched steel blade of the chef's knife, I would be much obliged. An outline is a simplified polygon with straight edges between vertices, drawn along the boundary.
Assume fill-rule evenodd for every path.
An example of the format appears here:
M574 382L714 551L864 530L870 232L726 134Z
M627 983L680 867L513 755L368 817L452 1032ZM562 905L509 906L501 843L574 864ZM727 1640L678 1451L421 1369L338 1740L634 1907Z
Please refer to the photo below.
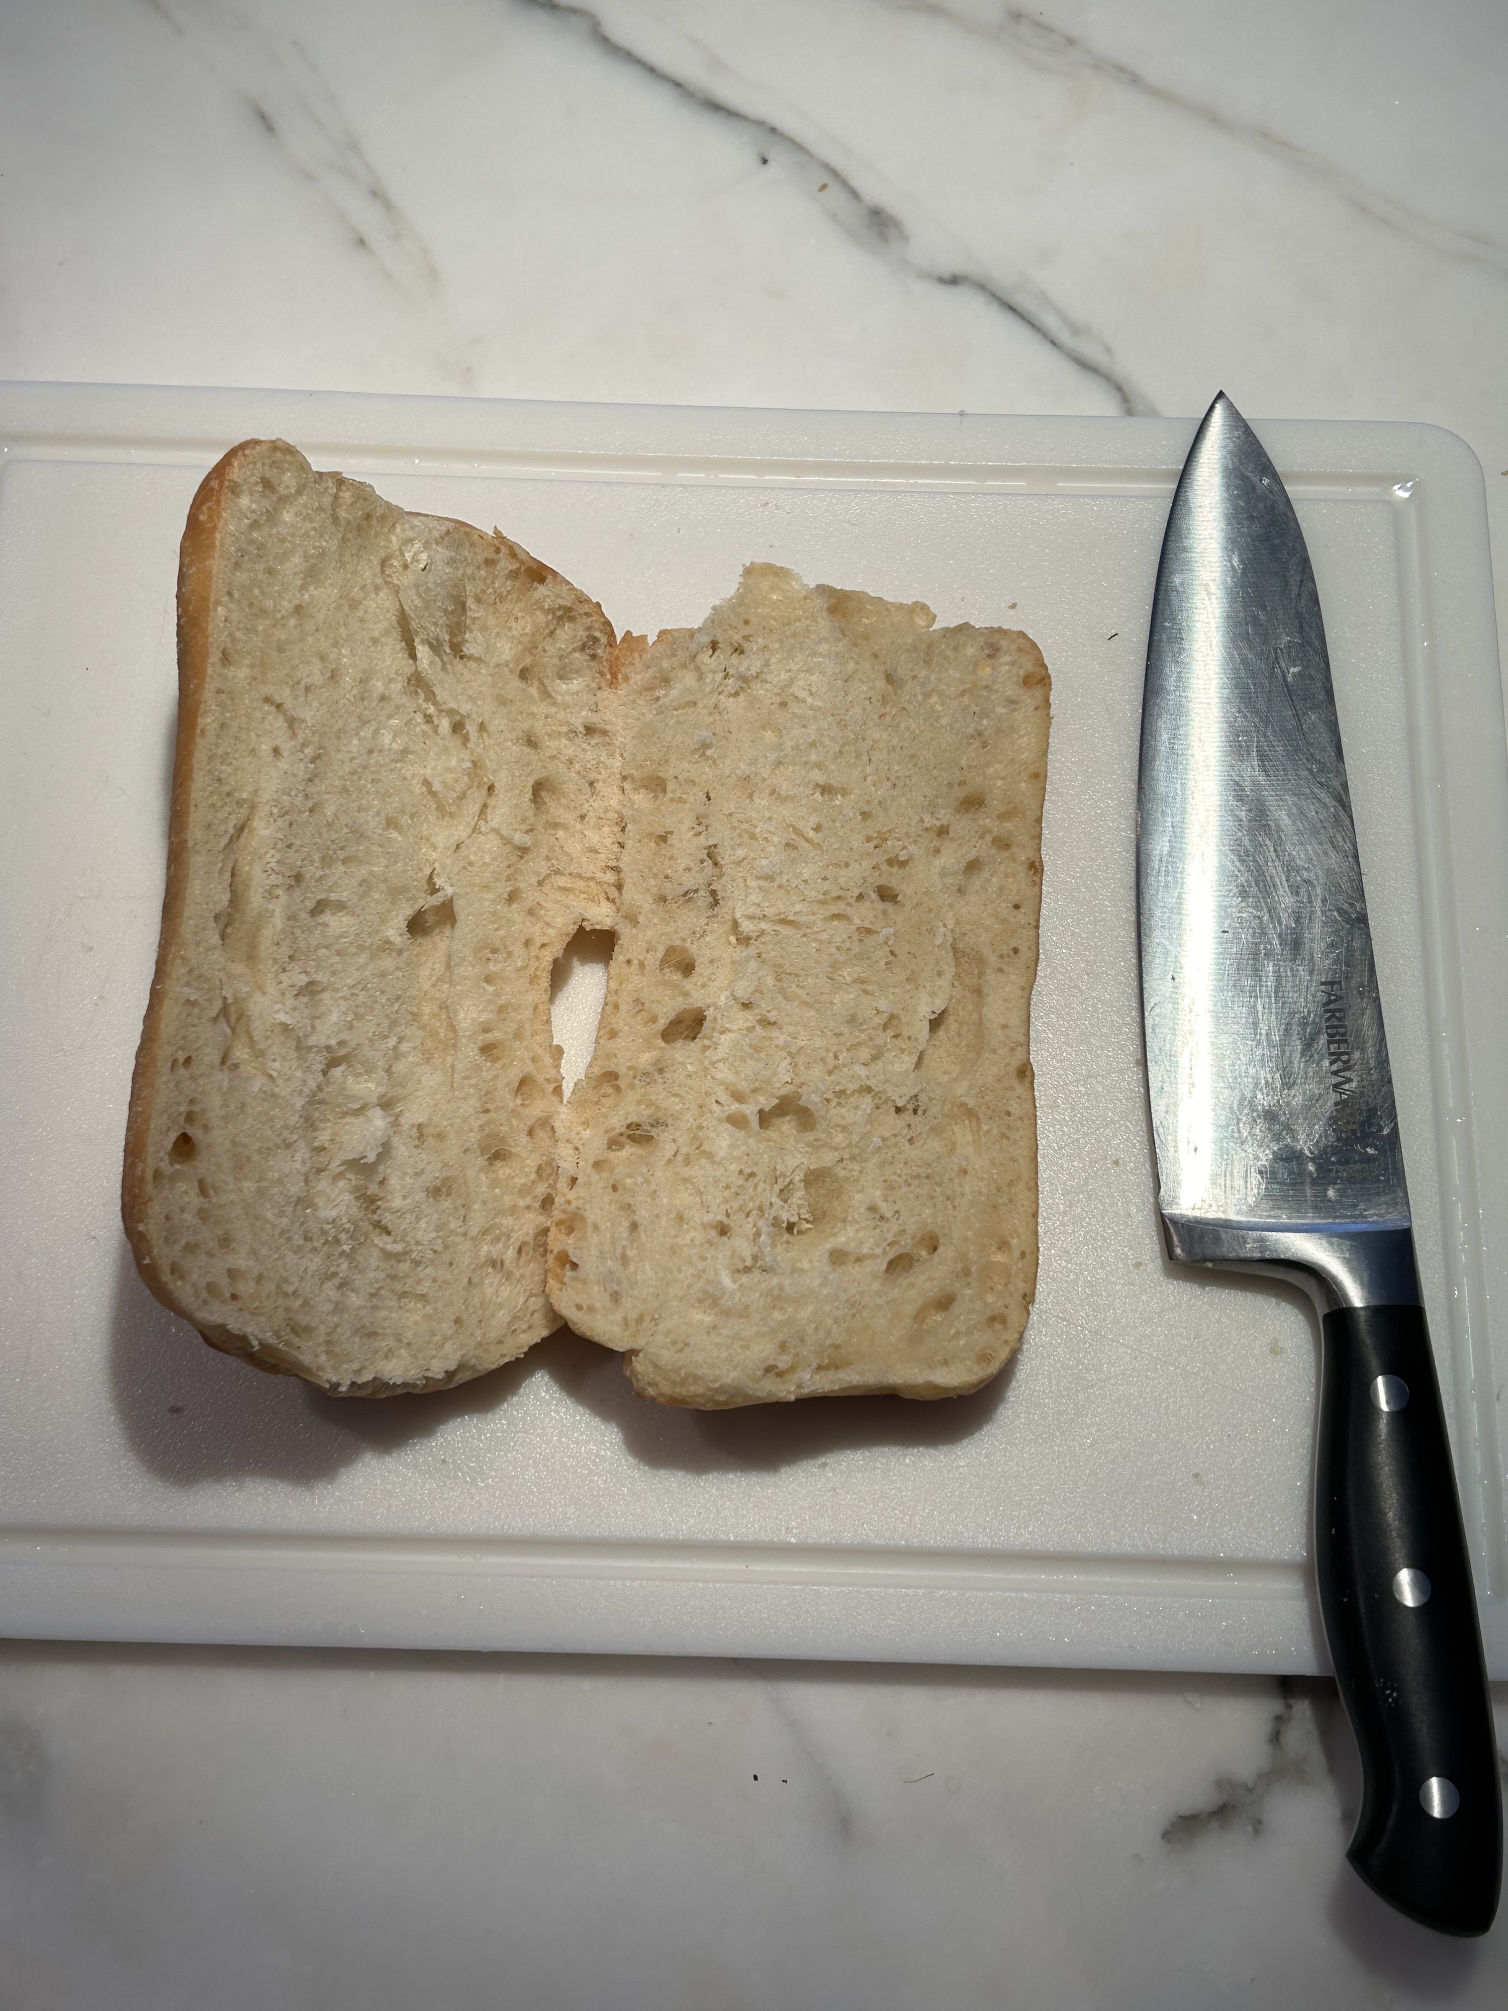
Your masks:
M1224 394L1162 543L1138 899L1170 1253L1222 1261L1281 1255L1297 1231L1331 1243L1405 1229L1315 575L1289 495ZM1220 1225L1283 1235L1243 1243Z

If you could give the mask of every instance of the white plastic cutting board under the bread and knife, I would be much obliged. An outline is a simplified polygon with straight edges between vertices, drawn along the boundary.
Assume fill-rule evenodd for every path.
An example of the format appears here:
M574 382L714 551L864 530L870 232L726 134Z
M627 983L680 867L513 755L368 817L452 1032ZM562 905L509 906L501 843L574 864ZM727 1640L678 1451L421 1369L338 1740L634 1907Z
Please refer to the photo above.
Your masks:
M1259 424L1315 561L1430 1325L1496 1675L1508 1542L1508 762L1482 477L1424 426ZM117 1186L173 746L173 575L284 434L493 523L621 627L748 559L1013 623L1054 676L1033 1058L1042 1279L967 1400L722 1416L571 1335L334 1402L139 1285ZM1323 1667L1315 1327L1160 1253L1134 961L1146 623L1192 426L0 390L0 1629L1184 1669Z

